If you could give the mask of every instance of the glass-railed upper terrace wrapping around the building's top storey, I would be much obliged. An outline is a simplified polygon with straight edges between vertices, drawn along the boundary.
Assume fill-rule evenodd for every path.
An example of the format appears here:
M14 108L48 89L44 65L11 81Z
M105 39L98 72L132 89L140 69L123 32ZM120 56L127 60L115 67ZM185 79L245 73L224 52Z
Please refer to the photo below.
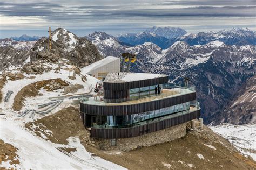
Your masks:
M194 86L177 86L174 84L163 84L163 89L161 90L160 94L147 94L147 95L140 95L132 96L131 98L118 98L118 99L103 99L103 96L97 96L89 99L84 98L84 103L87 104L102 104L102 105L120 105L123 104L136 104L136 103L143 103L149 102L153 100L159 100L162 98L174 97L179 95L185 95L194 92Z

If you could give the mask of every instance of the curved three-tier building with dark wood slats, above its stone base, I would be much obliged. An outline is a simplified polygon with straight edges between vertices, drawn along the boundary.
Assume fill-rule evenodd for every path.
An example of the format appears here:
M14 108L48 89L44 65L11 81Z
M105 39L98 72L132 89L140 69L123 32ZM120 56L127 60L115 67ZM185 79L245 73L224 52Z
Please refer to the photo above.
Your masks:
M133 138L186 123L200 116L194 87L177 87L164 74L109 73L103 98L80 102L92 138Z

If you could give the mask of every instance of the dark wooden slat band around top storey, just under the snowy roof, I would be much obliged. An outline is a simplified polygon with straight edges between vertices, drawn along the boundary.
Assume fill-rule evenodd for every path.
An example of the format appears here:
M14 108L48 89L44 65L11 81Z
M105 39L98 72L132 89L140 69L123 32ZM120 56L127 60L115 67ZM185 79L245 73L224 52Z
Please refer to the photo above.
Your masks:
M131 82L103 82L104 90L128 90L140 87L154 86L157 84L165 84L168 82L168 76L158 77L147 80L131 81Z

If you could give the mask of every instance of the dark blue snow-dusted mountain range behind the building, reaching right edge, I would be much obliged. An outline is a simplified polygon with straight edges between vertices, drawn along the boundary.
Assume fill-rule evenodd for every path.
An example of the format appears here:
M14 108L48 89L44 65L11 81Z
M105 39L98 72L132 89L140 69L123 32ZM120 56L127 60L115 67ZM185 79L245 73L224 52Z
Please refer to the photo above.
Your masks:
M167 74L171 82L178 84L185 76L190 77L197 88L205 123L212 122L217 116L215 111L255 74L254 45L226 45L214 40L193 46L177 41L167 49L152 42L127 47L106 33L91 33L90 40L103 56L137 53L136 65L131 66L133 72Z

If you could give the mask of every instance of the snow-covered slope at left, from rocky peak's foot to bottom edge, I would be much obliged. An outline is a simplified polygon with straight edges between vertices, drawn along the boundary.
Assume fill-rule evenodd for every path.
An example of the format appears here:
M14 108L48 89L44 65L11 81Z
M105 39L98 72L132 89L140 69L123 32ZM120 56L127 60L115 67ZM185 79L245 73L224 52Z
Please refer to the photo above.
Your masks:
M29 94L29 91L33 91L33 89L30 88L23 96L25 100L22 102L21 112L25 109L38 110L39 104L48 103L51 102L51 100L58 100L59 97L62 97L63 102L49 114L45 115L48 116L62 108L72 105L73 99L69 98L70 95L76 96L90 93L92 87L94 87L99 80L86 74L80 74L75 66L68 63L70 63L68 60L62 60L57 63L37 61L37 66L42 65L42 67L45 68L40 74L30 74L30 72L23 73L20 69L5 70L1 73L0 82L3 84L0 84L3 87L0 86L0 95L5 97L9 90L12 91L13 94L11 94L8 102L2 100L0 103L0 136L5 143L9 143L18 149L17 159L20 164L11 165L10 162L1 162L0 167L18 169L123 169L123 167L119 165L95 157L87 152L84 146L80 144L78 137L70 137L67 145L55 144L51 141L39 138L31 133L31 131L28 131L24 125L29 121L33 121L33 119L42 118L43 115L36 114L35 117L29 117L29 115L18 117L20 112L14 111L13 106L18 93L26 86L36 82L61 79L62 81L68 82L69 87L80 84L83 88L67 94L64 94L65 87L53 91L47 91L41 88L39 89L38 95L28 97L26 94ZM29 66L30 64L28 63L27 65ZM19 76L13 79L15 74ZM50 131L47 132L51 133ZM70 154L65 154L65 152L58 149L61 147L76 148L76 150Z

